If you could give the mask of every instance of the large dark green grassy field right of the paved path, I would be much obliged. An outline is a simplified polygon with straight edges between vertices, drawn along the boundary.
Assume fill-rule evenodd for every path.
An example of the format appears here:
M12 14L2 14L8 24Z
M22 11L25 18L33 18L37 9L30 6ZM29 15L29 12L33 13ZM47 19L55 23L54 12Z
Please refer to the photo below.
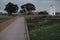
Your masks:
M60 40L60 17L27 18L30 40Z

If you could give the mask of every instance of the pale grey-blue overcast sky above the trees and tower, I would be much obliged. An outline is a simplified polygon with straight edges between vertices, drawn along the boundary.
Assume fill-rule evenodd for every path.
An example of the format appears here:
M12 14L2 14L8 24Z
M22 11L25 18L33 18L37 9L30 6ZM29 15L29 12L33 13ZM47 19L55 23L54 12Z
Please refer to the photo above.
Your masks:
M56 12L60 12L60 0L0 0L0 11L4 11L5 5L8 2L12 2L19 6L19 10L21 10L20 6L26 3L32 3L36 7L36 11L49 11L50 5L55 6Z

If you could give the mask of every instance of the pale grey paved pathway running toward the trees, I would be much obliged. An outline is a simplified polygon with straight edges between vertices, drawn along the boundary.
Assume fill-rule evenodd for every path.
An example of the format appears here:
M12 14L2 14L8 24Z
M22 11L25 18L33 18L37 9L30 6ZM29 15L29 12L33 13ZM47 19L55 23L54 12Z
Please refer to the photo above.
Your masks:
M0 32L0 40L25 40L24 17L19 17L4 31Z

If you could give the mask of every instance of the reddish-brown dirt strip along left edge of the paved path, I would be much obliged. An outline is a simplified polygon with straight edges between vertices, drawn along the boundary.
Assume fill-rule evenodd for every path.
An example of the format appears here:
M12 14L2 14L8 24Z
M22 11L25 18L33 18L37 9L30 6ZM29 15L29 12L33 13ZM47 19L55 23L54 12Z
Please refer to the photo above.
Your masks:
M18 16L13 17L3 23L0 23L0 32L2 32L5 28L7 28L8 25L10 25L12 22L14 22L17 18L18 18Z

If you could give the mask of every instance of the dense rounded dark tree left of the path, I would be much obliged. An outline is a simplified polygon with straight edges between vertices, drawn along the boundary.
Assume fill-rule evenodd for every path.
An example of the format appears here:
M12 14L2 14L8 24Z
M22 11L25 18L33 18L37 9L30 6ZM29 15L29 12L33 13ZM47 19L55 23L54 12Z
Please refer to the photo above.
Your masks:
M9 2L4 10L7 11L9 15L12 15L12 13L16 13L18 11L18 6Z

